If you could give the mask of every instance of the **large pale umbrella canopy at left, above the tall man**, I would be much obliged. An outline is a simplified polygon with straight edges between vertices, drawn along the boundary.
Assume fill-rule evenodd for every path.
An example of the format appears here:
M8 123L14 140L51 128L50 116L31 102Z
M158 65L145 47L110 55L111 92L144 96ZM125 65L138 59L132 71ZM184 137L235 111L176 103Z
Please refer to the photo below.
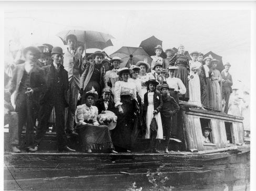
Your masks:
M77 41L85 44L87 48L98 48L103 50L106 47L113 46L111 38L113 36L105 33L100 33L98 31L92 30L64 30L57 34L57 36L62 39L63 43L66 45L66 37L68 35L75 35Z

